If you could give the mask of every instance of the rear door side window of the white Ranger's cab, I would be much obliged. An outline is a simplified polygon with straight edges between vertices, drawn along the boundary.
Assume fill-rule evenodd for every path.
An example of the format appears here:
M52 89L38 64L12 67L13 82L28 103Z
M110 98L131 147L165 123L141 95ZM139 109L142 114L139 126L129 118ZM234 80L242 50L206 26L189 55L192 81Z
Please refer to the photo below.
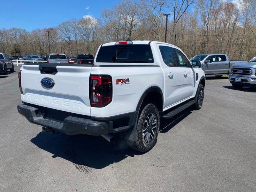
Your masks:
M176 67L177 63L171 47L159 46L164 63L169 67Z

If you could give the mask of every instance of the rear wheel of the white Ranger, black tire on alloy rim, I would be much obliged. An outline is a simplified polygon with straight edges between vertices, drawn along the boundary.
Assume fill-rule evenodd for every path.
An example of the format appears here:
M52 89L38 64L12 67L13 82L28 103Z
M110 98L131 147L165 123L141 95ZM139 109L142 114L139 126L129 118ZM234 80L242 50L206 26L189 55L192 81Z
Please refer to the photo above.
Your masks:
M156 144L159 128L160 114L158 109L154 104L146 105L138 119L135 141L128 140L128 145L136 151L148 152Z

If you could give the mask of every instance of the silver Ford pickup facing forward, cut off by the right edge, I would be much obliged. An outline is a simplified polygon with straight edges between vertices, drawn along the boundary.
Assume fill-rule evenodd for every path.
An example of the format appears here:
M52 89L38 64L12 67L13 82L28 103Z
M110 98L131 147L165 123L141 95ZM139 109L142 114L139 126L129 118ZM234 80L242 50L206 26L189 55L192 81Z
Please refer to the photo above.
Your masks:
M256 57L249 62L233 65L228 79L234 88L256 88Z

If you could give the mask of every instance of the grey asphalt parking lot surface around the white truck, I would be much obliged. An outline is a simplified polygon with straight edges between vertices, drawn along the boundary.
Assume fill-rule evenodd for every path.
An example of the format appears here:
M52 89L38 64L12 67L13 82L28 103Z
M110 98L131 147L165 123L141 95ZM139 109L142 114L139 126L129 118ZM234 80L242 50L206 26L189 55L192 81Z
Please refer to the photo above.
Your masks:
M43 133L17 112L18 72L0 75L0 191L256 191L256 90L206 78L201 110L161 125L142 154L119 139Z

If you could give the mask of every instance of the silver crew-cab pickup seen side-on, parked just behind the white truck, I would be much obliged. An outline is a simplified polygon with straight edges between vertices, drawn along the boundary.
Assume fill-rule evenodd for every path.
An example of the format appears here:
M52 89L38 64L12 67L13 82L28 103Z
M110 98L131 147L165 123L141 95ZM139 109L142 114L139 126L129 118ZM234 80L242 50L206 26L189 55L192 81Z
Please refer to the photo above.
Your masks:
M240 64L247 61L231 61L226 54L201 54L194 56L191 60L200 60L201 68L206 75L215 75L221 77L229 74L234 64Z

